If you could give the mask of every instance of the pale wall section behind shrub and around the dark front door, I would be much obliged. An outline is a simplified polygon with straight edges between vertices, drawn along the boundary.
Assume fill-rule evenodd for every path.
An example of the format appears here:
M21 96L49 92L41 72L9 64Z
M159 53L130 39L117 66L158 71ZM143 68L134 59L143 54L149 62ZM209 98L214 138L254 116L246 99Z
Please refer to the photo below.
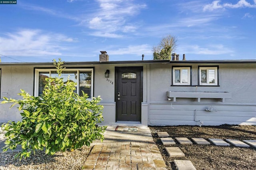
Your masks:
M116 122L116 103L115 103L115 66L131 66L130 64L98 64L98 65L65 65L66 68L92 68L94 67L94 96L100 96L102 101L100 104L104 106L102 125L115 125ZM133 64L132 66L143 66L146 64ZM34 68L53 68L53 65L39 66L1 66L1 98L20 99L17 94L20 89L26 90L30 95L34 92ZM105 78L104 73L110 70L110 77ZM145 69L147 70L147 69ZM147 101L147 73L143 72L145 79L143 80L143 101ZM113 82L113 84L112 84ZM0 100L1 102L1 100ZM21 119L20 111L11 104L0 104L0 122L9 120L18 121ZM146 109L145 109L146 108ZM142 106L142 125L148 123L148 107L147 104Z

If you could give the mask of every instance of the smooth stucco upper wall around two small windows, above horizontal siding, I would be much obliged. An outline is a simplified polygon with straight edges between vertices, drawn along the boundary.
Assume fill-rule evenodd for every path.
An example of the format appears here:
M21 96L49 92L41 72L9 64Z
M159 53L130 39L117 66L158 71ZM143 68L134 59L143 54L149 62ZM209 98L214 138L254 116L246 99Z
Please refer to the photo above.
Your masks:
M210 64L182 64L192 66L192 86L171 86L172 65L152 64L150 66L150 102L166 102L167 91L195 92L198 85L198 66ZM219 65L220 86L198 86L197 92L230 92L232 98L226 103L256 103L256 64L212 64Z

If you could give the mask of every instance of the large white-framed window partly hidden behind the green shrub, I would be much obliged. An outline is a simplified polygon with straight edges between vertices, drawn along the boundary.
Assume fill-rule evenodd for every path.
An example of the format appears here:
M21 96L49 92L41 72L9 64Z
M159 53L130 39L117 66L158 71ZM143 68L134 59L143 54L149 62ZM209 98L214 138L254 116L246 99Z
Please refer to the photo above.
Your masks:
M56 69L35 69L35 96L40 96L43 93L46 85L45 78L58 77ZM83 69L68 69L62 71L61 77L64 82L68 81L76 82L76 90L74 92L82 96L82 91L88 94L88 98L93 96L93 68ZM79 83L78 83L79 82Z

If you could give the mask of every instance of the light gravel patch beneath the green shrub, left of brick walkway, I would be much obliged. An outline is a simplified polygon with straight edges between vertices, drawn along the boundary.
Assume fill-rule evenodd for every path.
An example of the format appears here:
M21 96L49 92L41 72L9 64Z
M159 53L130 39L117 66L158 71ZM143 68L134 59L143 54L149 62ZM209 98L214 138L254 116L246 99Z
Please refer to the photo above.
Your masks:
M68 151L67 156L62 156L61 152L51 156L37 151L26 160L14 159L16 153L0 153L0 170L80 170L90 153L90 147Z

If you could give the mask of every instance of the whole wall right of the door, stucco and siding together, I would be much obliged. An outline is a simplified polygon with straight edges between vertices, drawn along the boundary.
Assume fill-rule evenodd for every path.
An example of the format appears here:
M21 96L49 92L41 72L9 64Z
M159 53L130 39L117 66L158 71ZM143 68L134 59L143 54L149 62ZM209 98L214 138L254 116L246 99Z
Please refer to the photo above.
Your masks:
M256 125L256 64L212 64L219 66L220 86L198 86L198 66L210 64L182 64L192 66L192 86L171 86L172 65L150 66L150 104L148 125ZM158 69L160 67L160 69ZM197 89L196 89L196 86ZM231 98L177 98L168 101L172 92L230 92ZM208 107L215 111L205 111ZM197 121L195 121L197 120Z

